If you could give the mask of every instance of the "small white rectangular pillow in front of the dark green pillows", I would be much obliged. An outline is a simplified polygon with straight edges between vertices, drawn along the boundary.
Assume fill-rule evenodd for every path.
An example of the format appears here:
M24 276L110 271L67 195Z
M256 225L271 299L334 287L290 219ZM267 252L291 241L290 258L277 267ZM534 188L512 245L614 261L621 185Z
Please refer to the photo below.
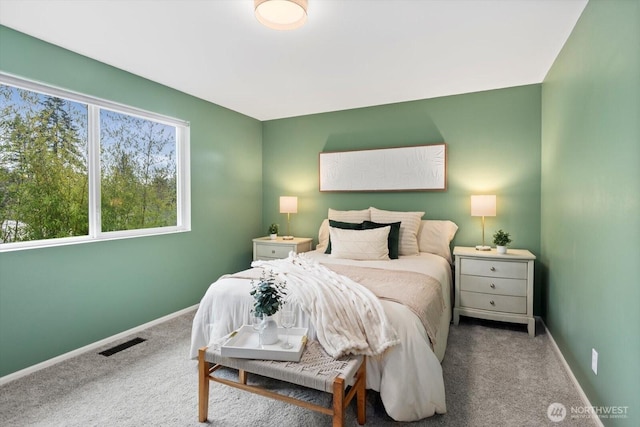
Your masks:
M345 230L329 227L331 235L331 258L357 260L388 260L389 231L391 227L369 230Z

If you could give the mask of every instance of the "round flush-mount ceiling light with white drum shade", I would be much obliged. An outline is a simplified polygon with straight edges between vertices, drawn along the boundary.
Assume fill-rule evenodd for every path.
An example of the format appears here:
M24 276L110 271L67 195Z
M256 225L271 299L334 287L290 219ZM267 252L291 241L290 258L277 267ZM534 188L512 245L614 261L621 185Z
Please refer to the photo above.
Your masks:
M274 30L294 30L307 22L307 0L254 0L256 18Z

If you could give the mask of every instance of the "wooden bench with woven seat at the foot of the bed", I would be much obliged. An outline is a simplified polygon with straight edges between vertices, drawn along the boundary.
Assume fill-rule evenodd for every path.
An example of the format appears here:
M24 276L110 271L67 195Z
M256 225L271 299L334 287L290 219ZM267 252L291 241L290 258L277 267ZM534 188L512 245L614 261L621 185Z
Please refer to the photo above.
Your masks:
M311 409L333 416L333 426L344 424L344 410L354 396L357 396L358 423L365 423L366 393L366 357L344 356L334 359L322 349L317 341L309 341L300 362L281 362L273 360L239 359L222 357L219 349L203 347L198 354L199 420L205 422L209 411L210 381L239 388L262 396L271 397L287 403ZM238 381L216 377L214 372L221 367L238 370ZM333 407L326 408L290 396L265 390L256 385L247 384L247 373L296 384L333 394ZM351 389L346 393L347 386Z

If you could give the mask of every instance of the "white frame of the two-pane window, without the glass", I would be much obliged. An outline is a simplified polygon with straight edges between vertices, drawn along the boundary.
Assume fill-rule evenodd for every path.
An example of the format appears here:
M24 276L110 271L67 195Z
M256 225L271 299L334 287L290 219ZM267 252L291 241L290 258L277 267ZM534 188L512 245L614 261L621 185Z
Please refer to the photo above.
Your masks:
M191 173L190 173L190 125L189 122L161 114L130 107L116 102L80 94L47 84L27 80L0 72L0 83L20 89L55 96L87 105L87 174L89 178L89 233L86 236L62 237L27 242L0 243L0 252L23 249L64 246L104 240L127 239L191 231ZM135 230L101 230L100 198L100 110L108 109L130 116L152 120L176 128L176 225Z

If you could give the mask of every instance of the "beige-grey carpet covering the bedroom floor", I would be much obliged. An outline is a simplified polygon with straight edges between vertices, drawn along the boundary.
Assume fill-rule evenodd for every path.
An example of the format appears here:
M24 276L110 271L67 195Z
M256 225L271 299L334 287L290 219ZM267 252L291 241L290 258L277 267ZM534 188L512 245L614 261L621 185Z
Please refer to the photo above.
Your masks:
M100 349L0 387L0 425L203 425L197 420L197 364L186 358L192 317L188 313L136 334L147 341L111 357L99 355ZM561 423L547 417L551 403L562 403L567 410L584 404L540 330L538 325L532 339L520 326L463 318L459 326L451 326L443 362L448 413L397 423L385 414L377 394L369 392L366 425L595 425L571 414ZM330 404L327 394L263 381L270 388ZM328 415L220 384L211 385L209 419L210 425L224 427L331 425ZM353 403L346 425L357 425Z

